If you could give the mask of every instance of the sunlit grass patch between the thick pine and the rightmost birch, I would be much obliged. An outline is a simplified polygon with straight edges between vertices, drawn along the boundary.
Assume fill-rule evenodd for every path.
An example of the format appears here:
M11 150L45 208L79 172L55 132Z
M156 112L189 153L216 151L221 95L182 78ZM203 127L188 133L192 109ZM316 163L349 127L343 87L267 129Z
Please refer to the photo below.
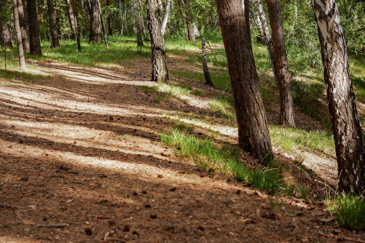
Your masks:
M333 134L326 131L307 131L304 129L284 128L270 125L270 137L273 145L284 151L291 151L295 146L299 149L316 150L319 153L335 149Z

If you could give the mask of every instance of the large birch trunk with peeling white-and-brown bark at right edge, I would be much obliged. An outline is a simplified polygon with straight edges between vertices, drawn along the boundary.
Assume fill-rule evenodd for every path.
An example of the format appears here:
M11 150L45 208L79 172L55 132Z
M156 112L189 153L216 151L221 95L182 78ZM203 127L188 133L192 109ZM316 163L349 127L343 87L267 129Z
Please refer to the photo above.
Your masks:
M352 88L346 40L335 0L312 0L327 85L340 192L365 191L365 147Z

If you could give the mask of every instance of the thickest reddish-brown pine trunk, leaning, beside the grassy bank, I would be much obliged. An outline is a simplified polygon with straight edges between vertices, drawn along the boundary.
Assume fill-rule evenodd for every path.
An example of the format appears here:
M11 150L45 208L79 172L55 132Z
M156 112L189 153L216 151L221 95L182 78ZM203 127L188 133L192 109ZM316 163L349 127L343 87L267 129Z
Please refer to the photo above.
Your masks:
M238 122L238 142L253 158L272 154L249 28L241 0L216 0ZM245 9L248 3L245 2Z

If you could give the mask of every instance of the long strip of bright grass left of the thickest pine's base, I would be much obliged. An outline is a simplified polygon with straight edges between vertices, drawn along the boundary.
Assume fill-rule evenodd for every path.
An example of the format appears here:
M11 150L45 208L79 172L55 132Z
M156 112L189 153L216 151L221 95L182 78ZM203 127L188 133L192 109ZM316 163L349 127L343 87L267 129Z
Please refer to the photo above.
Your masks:
M256 188L265 189L271 195L279 191L292 191L292 187L281 178L279 169L246 168L239 160L239 150L226 146L219 148L209 138L201 138L177 128L170 132L162 132L159 138L163 144L173 146L176 155L193 159L193 162L204 170L233 175L237 180L247 181Z

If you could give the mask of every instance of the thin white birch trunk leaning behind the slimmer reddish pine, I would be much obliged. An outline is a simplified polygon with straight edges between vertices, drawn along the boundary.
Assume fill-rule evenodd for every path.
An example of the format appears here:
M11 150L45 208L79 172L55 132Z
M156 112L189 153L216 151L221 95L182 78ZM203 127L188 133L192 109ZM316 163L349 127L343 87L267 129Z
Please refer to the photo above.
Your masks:
M269 32L268 23L266 21L266 16L264 12L264 8L262 7L261 0L254 0L256 8L257 8L257 24L260 29L260 35L262 36L262 39L265 41L265 46L268 49L269 58L271 62L271 67L274 73L275 81L278 84L278 77L277 72L275 68L275 59L274 59L274 47L273 47L273 41Z

